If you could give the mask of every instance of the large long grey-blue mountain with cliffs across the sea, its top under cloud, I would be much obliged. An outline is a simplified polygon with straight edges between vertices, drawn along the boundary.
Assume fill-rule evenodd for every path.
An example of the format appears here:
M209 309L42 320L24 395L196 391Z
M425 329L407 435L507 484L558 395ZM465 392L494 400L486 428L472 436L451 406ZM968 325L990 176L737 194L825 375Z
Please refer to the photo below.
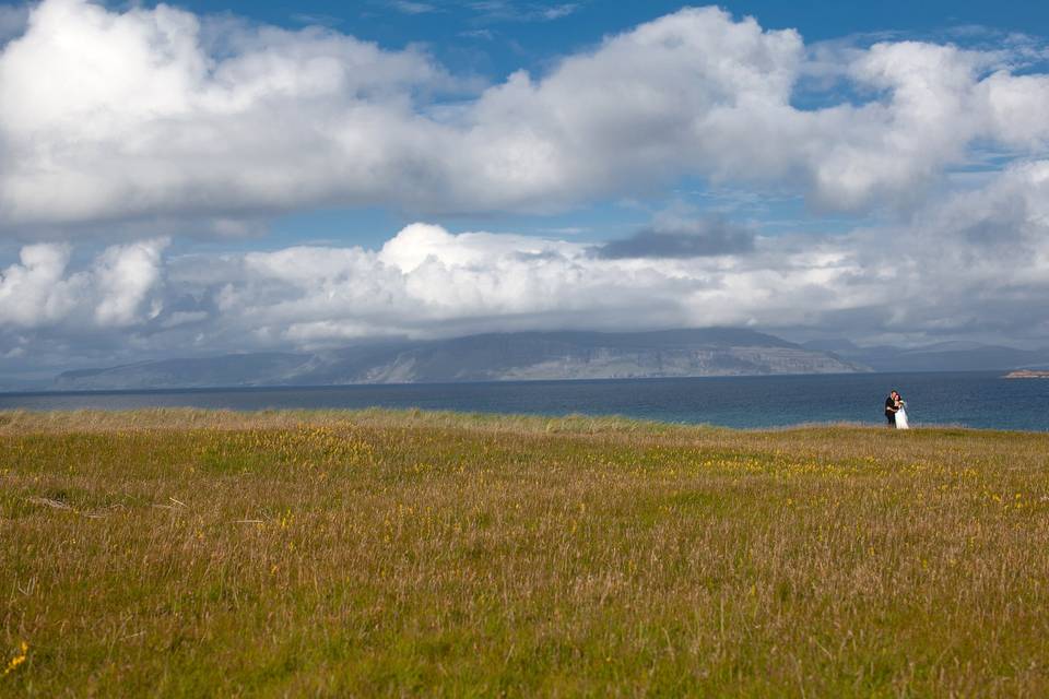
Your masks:
M520 332L369 343L313 354L164 359L59 375L57 390L340 386L540 379L847 374L863 363L728 328Z

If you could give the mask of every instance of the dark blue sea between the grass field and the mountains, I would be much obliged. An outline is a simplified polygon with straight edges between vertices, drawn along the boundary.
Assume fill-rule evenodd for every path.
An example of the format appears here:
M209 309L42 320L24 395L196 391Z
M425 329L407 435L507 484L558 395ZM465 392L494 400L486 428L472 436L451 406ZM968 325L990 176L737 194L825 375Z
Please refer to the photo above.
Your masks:
M235 411L369 406L561 416L623 415L736 428L884 425L898 390L912 427L1049 431L1049 379L1002 372L498 381L385 386L0 393L0 410L204 407Z

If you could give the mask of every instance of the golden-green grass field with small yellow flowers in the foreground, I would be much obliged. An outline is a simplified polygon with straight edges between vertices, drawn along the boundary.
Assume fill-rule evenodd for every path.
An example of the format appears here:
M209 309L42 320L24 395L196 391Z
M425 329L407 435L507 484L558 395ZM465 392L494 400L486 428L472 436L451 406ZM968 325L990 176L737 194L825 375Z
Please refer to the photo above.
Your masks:
M0 413L0 696L1041 697L1047 552L1049 435Z

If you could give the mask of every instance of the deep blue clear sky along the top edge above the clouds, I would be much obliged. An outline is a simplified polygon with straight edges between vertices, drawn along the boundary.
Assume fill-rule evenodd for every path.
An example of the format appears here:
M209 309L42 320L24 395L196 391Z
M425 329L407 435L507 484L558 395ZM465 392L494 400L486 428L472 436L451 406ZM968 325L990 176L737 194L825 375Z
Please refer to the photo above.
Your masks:
M149 3L146 3L149 4ZM170 3L197 13L235 14L259 22L298 27L318 23L401 48L423 44L457 71L475 71L497 80L515 70L542 72L558 57L593 46L609 34L705 3L519 2L517 0L433 0L431 2L282 2L193 0ZM986 40L974 29L1045 35L1049 5L1042 2L926 0L910 2L722 2L733 15L751 15L763 27L798 29L808 43L856 37ZM551 13L547 15L546 13Z

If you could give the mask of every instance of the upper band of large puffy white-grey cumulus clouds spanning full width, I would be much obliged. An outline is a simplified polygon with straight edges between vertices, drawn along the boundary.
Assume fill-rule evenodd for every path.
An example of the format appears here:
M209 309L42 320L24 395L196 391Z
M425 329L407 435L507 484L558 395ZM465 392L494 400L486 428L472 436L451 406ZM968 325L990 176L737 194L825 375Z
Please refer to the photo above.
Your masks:
M1049 141L1049 78L1001 52L836 58L868 100L800 109L814 59L797 32L685 9L450 104L463 84L415 49L44 0L0 54L0 228L319 203L550 211L682 176L912 205L974 143Z

